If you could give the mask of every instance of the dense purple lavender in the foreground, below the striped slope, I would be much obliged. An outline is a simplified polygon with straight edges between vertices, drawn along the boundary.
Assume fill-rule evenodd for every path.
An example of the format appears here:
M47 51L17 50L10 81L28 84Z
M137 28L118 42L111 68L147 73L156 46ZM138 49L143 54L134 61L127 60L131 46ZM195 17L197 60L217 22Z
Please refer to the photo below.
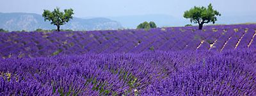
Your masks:
M255 49L0 60L0 95L255 95Z

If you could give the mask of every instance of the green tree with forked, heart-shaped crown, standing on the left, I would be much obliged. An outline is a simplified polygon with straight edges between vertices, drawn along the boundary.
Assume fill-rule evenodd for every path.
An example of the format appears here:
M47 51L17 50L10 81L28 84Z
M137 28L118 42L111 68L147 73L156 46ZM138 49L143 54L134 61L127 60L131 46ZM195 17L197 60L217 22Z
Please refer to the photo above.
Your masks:
M66 24L69 20L73 19L73 10L70 8L64 10L64 13L60 11L60 8L55 8L52 12L49 10L44 10L42 16L44 20L49 20L51 24L57 26L57 31L60 31L60 26Z

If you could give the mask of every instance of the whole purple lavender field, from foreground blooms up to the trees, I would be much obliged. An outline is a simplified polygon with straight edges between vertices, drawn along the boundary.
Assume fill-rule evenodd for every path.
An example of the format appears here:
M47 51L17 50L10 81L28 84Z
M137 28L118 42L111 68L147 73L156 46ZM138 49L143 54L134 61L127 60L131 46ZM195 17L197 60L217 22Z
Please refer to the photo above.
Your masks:
M0 33L0 95L255 95L256 24Z

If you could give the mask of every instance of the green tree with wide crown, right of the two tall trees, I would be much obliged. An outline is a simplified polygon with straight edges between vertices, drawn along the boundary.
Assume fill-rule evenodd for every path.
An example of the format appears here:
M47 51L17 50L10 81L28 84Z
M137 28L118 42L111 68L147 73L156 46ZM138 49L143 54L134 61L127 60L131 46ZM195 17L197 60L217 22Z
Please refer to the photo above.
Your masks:
M184 12L183 15L184 18L190 19L191 23L197 23L199 29L202 29L205 23L212 22L214 24L217 20L216 16L221 16L221 14L212 8L212 4L209 4L208 8L194 6L194 8Z

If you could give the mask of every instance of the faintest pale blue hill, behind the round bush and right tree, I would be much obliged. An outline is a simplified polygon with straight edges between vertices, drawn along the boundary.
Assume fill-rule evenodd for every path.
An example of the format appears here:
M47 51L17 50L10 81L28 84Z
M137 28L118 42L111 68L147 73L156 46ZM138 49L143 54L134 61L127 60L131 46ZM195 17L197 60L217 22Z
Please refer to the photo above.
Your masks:
M218 17L216 24L241 24L246 22L256 22L255 17L256 15L222 15L221 17ZM173 17L172 15L131 15L108 18L120 22L124 28L136 28L136 26L144 21L154 21L156 22L157 27L185 26L186 24L191 24L189 19L184 19L183 17Z

